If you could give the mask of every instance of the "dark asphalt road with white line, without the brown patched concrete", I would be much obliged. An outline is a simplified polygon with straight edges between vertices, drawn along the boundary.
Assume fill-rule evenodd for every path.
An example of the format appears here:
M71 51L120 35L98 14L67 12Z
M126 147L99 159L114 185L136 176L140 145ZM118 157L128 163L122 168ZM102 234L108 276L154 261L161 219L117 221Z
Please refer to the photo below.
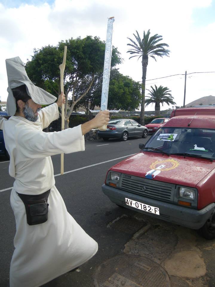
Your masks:
M64 175L60 173L60 155L52 156L56 187L60 191L68 212L82 228L99 244L97 254L80 267L80 271L64 274L43 287L90 287L96 268L106 259L121 254L124 245L133 235L133 229L111 229L108 224L122 216L136 212L123 209L102 193L101 186L105 181L108 169L114 164L139 152L139 143L147 139L130 138L126 142L110 139L105 141L85 142L85 152L64 155ZM16 227L13 211L10 207L10 188L13 178L8 174L9 162L0 157L0 224L1 224L1 271L0 286L9 286L10 260L13 254L13 237Z

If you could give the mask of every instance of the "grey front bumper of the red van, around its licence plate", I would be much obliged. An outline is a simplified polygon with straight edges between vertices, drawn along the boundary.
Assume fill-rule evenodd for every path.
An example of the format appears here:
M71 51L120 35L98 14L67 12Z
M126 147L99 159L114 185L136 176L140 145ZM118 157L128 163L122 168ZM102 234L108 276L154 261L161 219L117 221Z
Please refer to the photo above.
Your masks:
M189 207L183 207L171 203L166 203L154 199L149 199L137 194L129 193L124 190L120 190L115 187L110 187L108 185L102 185L102 191L109 199L118 205L122 205L126 208L132 209L136 212L141 212L146 215L156 217L157 219L162 219L168 222L172 222L178 225L182 225L192 229L201 228L211 214L214 211L215 204L211 203L208 206L202 208L201 210L191 209ZM144 204L148 204L159 208L160 215L145 212L136 208L133 208L125 204L125 198L129 198L135 201L139 201Z

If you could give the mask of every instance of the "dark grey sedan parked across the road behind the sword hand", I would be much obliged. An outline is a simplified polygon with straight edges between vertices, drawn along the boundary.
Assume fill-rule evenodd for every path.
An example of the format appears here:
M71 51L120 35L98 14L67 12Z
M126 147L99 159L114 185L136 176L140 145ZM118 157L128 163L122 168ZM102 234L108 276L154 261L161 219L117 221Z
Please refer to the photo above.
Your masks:
M129 137L142 136L142 138L147 138L148 129L135 120L115 119L109 121L106 131L98 130L98 136L105 141L109 138L121 138L122 141L127 141Z

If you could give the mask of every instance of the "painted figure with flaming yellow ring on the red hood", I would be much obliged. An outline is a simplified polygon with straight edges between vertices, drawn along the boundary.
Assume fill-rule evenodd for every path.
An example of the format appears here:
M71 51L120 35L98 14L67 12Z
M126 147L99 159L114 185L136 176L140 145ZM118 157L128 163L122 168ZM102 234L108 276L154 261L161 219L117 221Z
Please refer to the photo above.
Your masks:
M145 177L153 179L158 175L161 171L173 170L174 168L179 166L179 162L174 159L167 159L165 161L155 161L151 164L150 168Z

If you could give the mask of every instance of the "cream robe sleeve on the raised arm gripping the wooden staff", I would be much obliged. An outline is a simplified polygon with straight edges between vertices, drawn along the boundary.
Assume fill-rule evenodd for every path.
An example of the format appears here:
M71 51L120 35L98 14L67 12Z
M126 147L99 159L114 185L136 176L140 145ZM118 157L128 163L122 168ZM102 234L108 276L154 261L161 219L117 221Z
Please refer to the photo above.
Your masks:
M53 103L45 108L42 108L38 113L41 123L42 129L47 128L53 120L57 120L59 118L58 105Z

